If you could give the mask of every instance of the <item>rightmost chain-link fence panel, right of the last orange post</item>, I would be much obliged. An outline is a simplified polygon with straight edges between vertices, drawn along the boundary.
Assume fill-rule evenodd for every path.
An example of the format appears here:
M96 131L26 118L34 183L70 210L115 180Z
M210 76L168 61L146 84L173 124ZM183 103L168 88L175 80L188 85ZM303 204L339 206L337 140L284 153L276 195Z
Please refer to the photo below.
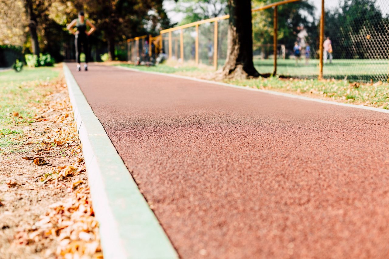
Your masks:
M324 78L387 81L389 1L325 0Z

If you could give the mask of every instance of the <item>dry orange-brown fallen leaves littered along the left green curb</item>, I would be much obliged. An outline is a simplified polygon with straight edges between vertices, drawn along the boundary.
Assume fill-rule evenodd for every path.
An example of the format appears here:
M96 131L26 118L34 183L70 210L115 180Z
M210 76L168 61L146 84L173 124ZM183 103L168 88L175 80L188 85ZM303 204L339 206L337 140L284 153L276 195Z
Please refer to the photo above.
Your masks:
M26 84L28 82L23 83ZM37 191L37 195L46 191L47 194L43 196L48 195L50 200L56 202L47 206L44 209L46 212L36 220L30 220L30 224L16 224L17 231L14 231L9 249L19 246L23 250L23 247L32 246L35 247L32 251L42 255L42 258L102 258L98 222L94 217L88 181L84 173L82 146L63 76L48 82L30 84L35 84L37 92L42 91L40 98L30 102L26 108L32 111L31 120L18 120L19 112L11 113L12 117L16 118L11 120L13 128L20 130L24 127L23 134L15 136L24 142L16 148L27 149L28 155L18 156L19 159L11 162L15 164L16 169L23 167L21 161L24 160L32 161L35 166L47 166L31 168L39 172L33 184L30 183L31 176L26 175L26 171L21 175L17 174L17 181L11 179L5 184L12 189ZM11 148L2 149L2 155L12 156L12 150L18 153L18 149ZM3 171L5 170L0 168L0 176ZM4 172L4 177L9 175L9 172ZM50 196L49 193L53 195ZM58 198L55 197L57 193ZM0 189L0 198L1 195ZM26 195L29 199L33 198L29 194ZM12 211L12 202L1 201L0 208ZM16 201L17 199L13 202ZM3 250L0 249L0 252Z

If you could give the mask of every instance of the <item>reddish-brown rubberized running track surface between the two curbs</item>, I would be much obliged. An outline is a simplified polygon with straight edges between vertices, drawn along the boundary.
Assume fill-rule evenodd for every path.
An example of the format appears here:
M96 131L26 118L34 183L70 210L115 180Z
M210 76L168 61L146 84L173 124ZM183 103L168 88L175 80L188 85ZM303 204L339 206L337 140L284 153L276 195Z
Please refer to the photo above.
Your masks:
M73 73L181 257L389 257L387 114Z

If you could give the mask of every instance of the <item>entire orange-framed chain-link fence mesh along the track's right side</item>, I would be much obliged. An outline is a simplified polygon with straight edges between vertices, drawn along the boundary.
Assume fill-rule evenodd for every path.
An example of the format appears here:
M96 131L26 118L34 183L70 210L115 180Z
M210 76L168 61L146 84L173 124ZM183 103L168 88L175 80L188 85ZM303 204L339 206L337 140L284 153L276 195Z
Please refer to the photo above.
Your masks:
M253 59L259 73L276 71L294 78L322 75L361 82L388 80L388 0L324 0L322 43L322 0L270 2L254 6L252 13ZM226 61L227 37L228 16L223 16L163 30L157 38L168 59L218 69ZM135 39L128 42L128 60L133 62L147 54L142 47L146 37Z

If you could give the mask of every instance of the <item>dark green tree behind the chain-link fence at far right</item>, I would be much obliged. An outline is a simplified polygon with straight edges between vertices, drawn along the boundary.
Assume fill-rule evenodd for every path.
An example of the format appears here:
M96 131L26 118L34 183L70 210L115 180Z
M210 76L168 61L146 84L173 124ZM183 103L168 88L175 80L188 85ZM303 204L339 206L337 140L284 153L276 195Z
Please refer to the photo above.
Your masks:
M325 34L332 41L334 58L389 58L384 47L389 42L389 15L382 15L376 0L343 0L326 13L325 20Z

